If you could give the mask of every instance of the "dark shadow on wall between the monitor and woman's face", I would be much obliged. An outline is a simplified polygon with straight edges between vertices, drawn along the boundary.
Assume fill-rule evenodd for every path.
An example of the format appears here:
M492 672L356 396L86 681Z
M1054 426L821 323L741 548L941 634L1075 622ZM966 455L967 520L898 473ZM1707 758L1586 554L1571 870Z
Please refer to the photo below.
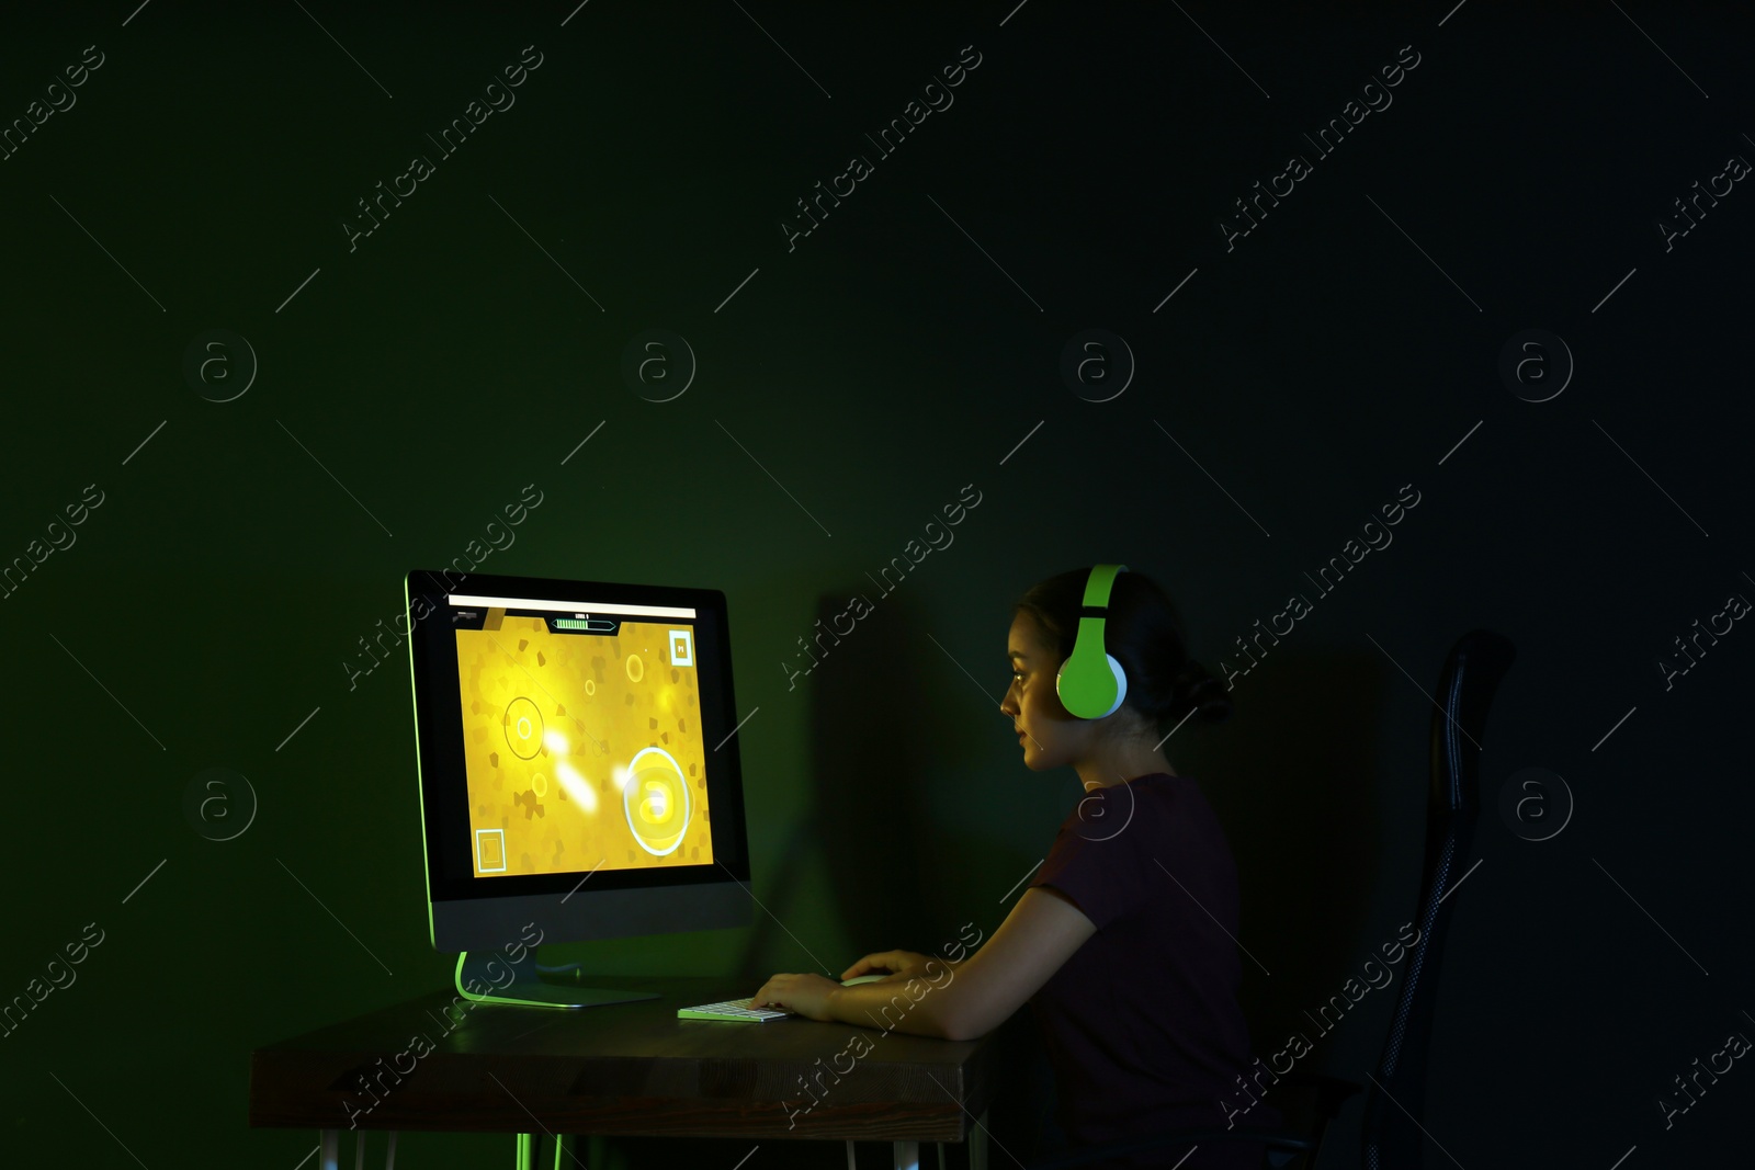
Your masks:
M746 977L772 974L763 954L797 951L795 940L774 937L784 935L774 916L792 921L788 909L813 896L828 903L825 917L846 928L858 954L897 947L935 952L956 938L949 919L965 898L948 896L946 882L956 881L960 867L937 858L941 842L925 784L928 775L942 775L944 756L955 751L967 712L979 710L979 700L937 693L942 681L927 693L927 679L942 679L944 672L921 670L923 654L939 651L925 633L930 614L911 605L906 586L892 596L879 596L869 584L862 593L872 609L839 642L830 619L841 614L846 630L851 591L818 600L818 663L797 677L795 693L777 700L807 705L809 807L781 847L774 881L762 882L774 891L767 907L772 916L762 914L749 931L741 967ZM811 667L804 651L792 661ZM999 719L997 696L993 705ZM818 877L821 886L814 886ZM992 933L990 923L979 926ZM834 979L858 954L818 949L816 958L834 968Z

